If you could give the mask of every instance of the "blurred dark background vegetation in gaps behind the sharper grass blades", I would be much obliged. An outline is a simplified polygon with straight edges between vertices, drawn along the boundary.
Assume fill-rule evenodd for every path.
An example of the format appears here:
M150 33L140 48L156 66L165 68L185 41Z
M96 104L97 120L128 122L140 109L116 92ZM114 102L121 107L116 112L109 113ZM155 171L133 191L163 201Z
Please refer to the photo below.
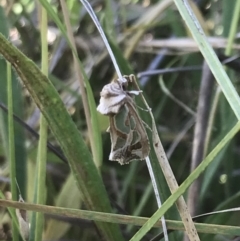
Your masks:
M115 71L99 33L87 12L77 1L66 2L70 8L71 24L74 30L79 58L89 76L94 97L96 103L98 103L102 87L114 78ZM91 4L103 28L108 30L109 21L106 17L106 2L91 1ZM198 51L197 45L195 47L190 45L190 41L191 44L194 44L194 41L175 5L171 4L150 24L146 22L145 25L145 22L143 22L135 27L135 23L139 19L143 19L147 11L152 7L154 8L155 4L159 2L161 1L110 1L114 20L110 24L113 24L114 31L108 31L107 34L124 53L132 45L134 35L139 29L144 29L139 43L133 46L133 52L128 58L134 74L141 76L141 72L144 71L180 68L177 71L164 73L162 75L163 81L171 95L196 113L200 98L200 83L203 81L202 76L206 68L203 68L204 59ZM202 20L200 23L204 26L206 34L209 38L214 37L211 43L216 53L224 61L228 58L225 55L225 49L236 1L199 0L192 2L195 7L195 14ZM60 18L62 18L59 2L51 1L51 4L58 12ZM8 39L37 65L40 65L41 41L37 2L31 0L1 0L0 19L0 31L8 31ZM72 52L61 32L50 18L48 26L49 78L61 95L79 132L84 136L86 143L89 144L81 92L73 68ZM161 44L162 40L165 40L165 42ZM183 44L182 46L180 46L180 41ZM153 42L156 42L159 47L153 46ZM238 76L240 70L238 59L240 45L238 45L238 42L237 35L231 53L231 56L236 58L230 61L226 67L226 71L237 90L239 88ZM169 47L169 43L173 44ZM3 62L3 60L1 61ZM198 69L195 68L196 66ZM183 71L185 67L192 67L192 69ZM1 63L2 71L3 68L4 64ZM6 105L6 95L4 94L6 92L6 82L3 78L4 76L0 72L0 101ZM20 82L16 82L16 86L14 86L15 103L17 103L14 112L35 132L38 132L40 112ZM179 134L184 133L175 148L171 149L172 152L169 159L176 179L181 184L191 170L195 117L163 91L160 85L160 75L140 77L139 83L149 106L152 108L157 128L167 153L173 148L173 143L176 143ZM216 99L218 91L215 81L212 84L212 88L209 88L208 91L210 98L205 103L205 109L213 117L213 122L209 123L207 116L206 125L202 127L205 130L209 130L211 134L204 141L204 144L207 143L207 146L205 146L206 153L213 149L236 122L236 118L224 96L220 94L218 99ZM217 101L215 109L214 101ZM141 110L139 111L141 112ZM5 112L2 112L2 123L5 115ZM134 161L125 166L108 161L111 146L109 133L105 132L108 127L108 119L100 114L98 117L103 138L101 174L109 197L112 200L112 205L115 205L115 211L130 215L151 216L156 211L157 205L151 189L150 177L145 161ZM187 125L191 119L192 124ZM21 190L22 196L25 201L31 202L38 140L27 130L19 133L16 134L16 138L19 138L20 146L16 148L16 152L18 153L17 161L21 171L17 173L17 179L20 183L26 183L25 190ZM5 135L3 125L1 126L0 134L3 140ZM61 152L50 131L48 140ZM3 143L4 141L0 142L0 187L5 193L9 191L9 171ZM221 151L216 157L214 164L210 165L204 175L201 176L197 191L199 195L195 203L195 214L227 209L238 205L240 198L239 153L239 140L236 137ZM74 208L81 207L84 209L84 204L80 202L77 189L73 188L75 184L69 176L69 171L68 165L49 150L47 158L46 204ZM67 181L69 183L66 183ZM187 195L185 197L187 199ZM143 201L144 198L145 200ZM141 202L143 203L140 210L135 213ZM122 209L119 209L119 207ZM0 233L2 234L0 240L10 239L9 217L5 210L1 209L0 212L2 217L0 218ZM91 222L61 218L62 226L59 226L60 224L56 222L59 219L56 217L52 219L52 217L46 216L44 240L98 240L98 234ZM216 224L239 225L239 214L229 213L202 220ZM129 230L122 226L122 230L127 240L137 229ZM146 237L146 240L150 240L158 232L159 230L152 230L148 234L149 236ZM176 234L175 238L176 240L182 240L182 233ZM212 235L204 236L202 240L235 239L218 235L213 237Z

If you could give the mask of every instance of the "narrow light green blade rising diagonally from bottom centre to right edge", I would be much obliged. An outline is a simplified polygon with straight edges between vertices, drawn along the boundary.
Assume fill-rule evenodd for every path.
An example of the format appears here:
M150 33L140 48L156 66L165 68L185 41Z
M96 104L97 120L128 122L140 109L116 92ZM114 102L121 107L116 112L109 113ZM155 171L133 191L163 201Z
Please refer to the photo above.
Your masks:
M240 129L240 122L228 132L228 134L220 141L213 151L202 161L202 163L188 176L175 193L173 193L158 209L157 212L142 226L142 228L133 236L131 241L138 241L153 227L159 218L175 203L175 201L187 190L187 188L196 180L199 175L214 160L214 157L220 150L234 137Z

